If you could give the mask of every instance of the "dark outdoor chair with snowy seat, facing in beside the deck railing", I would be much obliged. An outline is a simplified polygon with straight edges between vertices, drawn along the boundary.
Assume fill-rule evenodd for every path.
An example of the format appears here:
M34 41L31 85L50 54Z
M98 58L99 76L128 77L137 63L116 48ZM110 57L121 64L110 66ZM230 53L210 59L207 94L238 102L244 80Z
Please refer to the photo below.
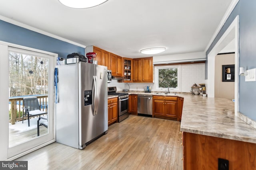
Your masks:
M27 116L28 126L30 126L29 120L31 116L33 117L33 116L38 116L38 115L40 116L40 115L47 114L47 106L41 105L43 107L46 107L46 111L41 111L37 97L23 98L23 104L24 104L24 107L22 107L23 109L22 123L24 121L24 117Z

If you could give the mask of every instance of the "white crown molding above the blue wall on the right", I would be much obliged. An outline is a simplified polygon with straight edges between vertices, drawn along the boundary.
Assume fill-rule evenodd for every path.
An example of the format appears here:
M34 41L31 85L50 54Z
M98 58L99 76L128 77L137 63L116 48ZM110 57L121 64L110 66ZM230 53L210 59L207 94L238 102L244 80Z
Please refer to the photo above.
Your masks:
M210 40L210 42L208 43L208 45L206 46L206 49L204 50L204 52L206 53L206 51L210 48L210 46L212 45L214 39L217 37L218 33L220 32L220 29L223 27L224 23L226 22L226 20L228 19L228 17L230 16L231 12L234 10L234 8L236 7L236 4L238 3L239 0L233 0L230 4L230 6L228 7L228 10L226 11L224 17L222 18L222 20L220 21L220 24L218 25L216 31L214 32L214 35L212 36L212 39Z

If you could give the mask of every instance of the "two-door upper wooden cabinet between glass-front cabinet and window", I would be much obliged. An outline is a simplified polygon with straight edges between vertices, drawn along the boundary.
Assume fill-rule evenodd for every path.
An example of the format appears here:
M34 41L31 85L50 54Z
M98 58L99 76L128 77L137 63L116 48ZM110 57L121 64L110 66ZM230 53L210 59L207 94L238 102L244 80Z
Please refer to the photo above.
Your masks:
M133 82L153 82L153 57L133 59Z

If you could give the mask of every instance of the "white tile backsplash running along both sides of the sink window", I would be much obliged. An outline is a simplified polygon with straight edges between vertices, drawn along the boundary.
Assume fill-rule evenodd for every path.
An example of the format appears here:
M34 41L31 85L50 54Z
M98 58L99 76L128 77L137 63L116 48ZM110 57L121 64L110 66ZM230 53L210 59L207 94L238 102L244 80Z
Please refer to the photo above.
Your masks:
M204 80L204 63L199 64L183 64L181 65L181 91L180 92L190 92L190 87L196 83L205 83ZM154 83L128 83L130 90L143 91L144 86L151 86L152 91L154 89ZM118 80L112 80L108 83L108 87L116 86L117 91L122 91L123 89L128 89L126 83L119 83ZM207 88L206 88L207 93Z

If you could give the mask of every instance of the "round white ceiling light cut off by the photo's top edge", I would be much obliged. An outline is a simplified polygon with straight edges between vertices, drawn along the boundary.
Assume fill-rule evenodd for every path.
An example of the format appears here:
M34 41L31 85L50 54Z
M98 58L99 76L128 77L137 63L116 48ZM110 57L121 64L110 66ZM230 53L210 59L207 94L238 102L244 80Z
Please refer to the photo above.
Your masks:
M70 8L91 8L103 4L108 0L59 0L65 6Z

